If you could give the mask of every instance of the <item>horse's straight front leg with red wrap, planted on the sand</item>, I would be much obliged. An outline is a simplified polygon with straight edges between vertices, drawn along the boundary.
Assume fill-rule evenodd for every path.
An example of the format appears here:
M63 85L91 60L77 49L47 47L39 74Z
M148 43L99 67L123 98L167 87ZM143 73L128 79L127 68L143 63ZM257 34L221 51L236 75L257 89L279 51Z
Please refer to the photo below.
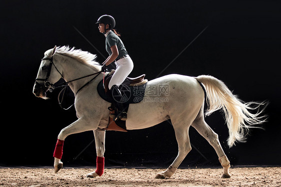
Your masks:
M105 151L105 131L93 130L96 149L96 170L87 174L87 177L96 177L103 174L104 151Z

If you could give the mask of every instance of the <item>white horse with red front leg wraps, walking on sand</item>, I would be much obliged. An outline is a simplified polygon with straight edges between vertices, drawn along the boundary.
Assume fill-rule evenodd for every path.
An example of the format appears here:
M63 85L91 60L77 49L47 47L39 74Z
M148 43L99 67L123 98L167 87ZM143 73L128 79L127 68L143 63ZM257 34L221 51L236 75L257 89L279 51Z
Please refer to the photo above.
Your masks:
M75 93L74 104L78 119L61 129L57 137L58 141L63 142L68 135L73 133L93 130L97 158L102 158L105 150L105 131L99 130L98 127L103 128L108 124L109 110L107 107L110 106L110 103L103 100L96 90L98 82L103 78L103 73L97 73L101 70L101 66L94 61L95 55L68 46L58 48L55 46L53 49L47 50L44 55L33 87L35 96L46 98L46 91L61 77L69 82L68 85ZM95 75L86 76L93 73ZM95 78L93 78L94 76ZM230 177L228 172L230 162L222 150L218 135L204 121L204 91L198 81L203 83L206 90L208 102L206 114L209 115L221 108L225 113L225 120L229 129L227 139L229 147L234 145L235 141L244 141L248 128L265 120L264 116L260 116L263 109L257 110L255 113L251 113L249 110L257 109L261 104L266 103L242 102L231 93L222 81L215 77L169 74L148 81L144 94L146 102L129 105L126 128L129 130L147 128L170 119L178 143L176 158L165 171L157 173L155 178L171 177L191 150L188 136L190 125L215 149L218 160L223 167L222 177ZM161 92L157 95L149 95L149 90L147 90L149 85L156 85L156 89L159 88L158 85L166 85L168 94L167 92ZM159 98L165 99L161 101ZM251 107L251 104L257 106ZM57 144L57 147L60 147L60 150L58 150L58 152L61 151L60 156L54 154L55 172L62 167L60 161L62 145L61 143ZM88 177L100 176L103 173L104 162L103 164L101 162L102 160L97 160L96 171L88 173Z

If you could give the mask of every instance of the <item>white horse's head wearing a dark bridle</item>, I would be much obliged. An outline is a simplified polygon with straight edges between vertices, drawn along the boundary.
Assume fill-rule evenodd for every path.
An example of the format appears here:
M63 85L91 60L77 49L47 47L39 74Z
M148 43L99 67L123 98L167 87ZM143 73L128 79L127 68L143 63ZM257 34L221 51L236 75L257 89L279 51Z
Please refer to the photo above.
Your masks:
M55 50L56 46L47 50L44 53L44 58L41 59L41 64L33 86L33 93L36 97L47 99L46 92L62 77L62 74L53 63Z

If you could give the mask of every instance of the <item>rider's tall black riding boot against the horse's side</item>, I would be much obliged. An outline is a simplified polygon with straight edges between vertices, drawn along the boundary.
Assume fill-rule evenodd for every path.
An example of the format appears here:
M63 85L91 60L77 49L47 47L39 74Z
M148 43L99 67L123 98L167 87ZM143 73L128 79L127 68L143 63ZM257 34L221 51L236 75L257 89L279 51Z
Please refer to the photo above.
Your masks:
M112 97L115 101L115 105L118 110L118 112L116 113L116 116L113 118L113 120L117 120L118 118L120 118L121 120L126 120L127 112L124 111L123 103L120 102L120 100L122 98L122 93L121 93L120 89L118 88L117 85L113 85L111 87L110 91L112 93Z

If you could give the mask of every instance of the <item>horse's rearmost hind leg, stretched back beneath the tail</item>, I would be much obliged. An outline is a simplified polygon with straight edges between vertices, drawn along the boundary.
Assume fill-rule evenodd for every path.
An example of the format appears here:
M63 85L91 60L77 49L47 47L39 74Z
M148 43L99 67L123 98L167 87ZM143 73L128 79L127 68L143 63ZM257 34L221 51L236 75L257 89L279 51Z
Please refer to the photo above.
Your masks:
M229 178L230 174L228 169L230 167L230 162L227 159L224 151L218 140L218 135L209 127L209 125L204 120L204 113L203 113L203 105L200 108L198 115L196 116L195 120L192 122L191 126L193 126L199 134L201 134L214 148L216 154L218 155L218 160L223 167L223 174L222 178Z

